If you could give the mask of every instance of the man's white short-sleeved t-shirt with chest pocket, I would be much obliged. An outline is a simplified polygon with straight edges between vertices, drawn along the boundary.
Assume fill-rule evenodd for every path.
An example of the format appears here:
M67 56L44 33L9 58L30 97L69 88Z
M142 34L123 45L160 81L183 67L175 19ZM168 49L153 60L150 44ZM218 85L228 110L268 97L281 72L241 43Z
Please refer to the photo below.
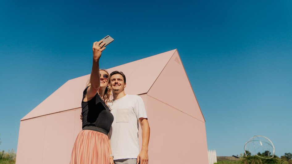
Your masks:
M110 130L111 151L114 160L137 158L139 155L138 119L147 118L142 98L138 95L126 95L113 103L108 103L114 121Z

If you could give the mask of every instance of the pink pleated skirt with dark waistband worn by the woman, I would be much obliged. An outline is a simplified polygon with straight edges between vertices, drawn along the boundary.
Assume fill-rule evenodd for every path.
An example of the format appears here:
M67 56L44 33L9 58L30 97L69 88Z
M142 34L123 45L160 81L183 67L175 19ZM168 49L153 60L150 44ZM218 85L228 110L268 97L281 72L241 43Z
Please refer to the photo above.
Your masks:
M81 130L73 146L70 164L109 163L107 135L94 130Z

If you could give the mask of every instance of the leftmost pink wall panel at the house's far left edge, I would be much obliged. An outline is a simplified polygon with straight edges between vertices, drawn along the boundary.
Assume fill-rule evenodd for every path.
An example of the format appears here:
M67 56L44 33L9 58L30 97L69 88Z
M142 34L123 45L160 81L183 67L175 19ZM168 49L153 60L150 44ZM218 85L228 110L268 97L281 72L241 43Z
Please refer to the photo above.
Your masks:
M16 164L42 163L45 122L45 117L20 122Z

